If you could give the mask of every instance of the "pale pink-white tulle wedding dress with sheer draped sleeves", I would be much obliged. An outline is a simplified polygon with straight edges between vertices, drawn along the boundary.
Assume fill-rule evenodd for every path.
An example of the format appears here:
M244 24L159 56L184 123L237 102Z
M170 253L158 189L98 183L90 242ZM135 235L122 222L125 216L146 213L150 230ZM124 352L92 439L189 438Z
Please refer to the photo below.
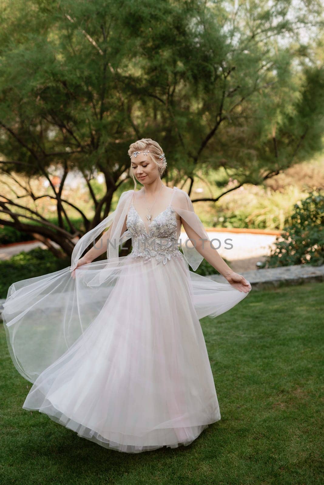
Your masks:
M221 419L199 319L248 294L189 270L202 256L193 245L179 251L176 213L210 240L188 194L175 187L147 228L134 194L124 192L79 240L70 268L12 284L2 314L16 369L32 382L23 409L126 453L189 445ZM107 227L120 246L109 244L107 259L77 268L73 279ZM118 256L130 237L131 253Z

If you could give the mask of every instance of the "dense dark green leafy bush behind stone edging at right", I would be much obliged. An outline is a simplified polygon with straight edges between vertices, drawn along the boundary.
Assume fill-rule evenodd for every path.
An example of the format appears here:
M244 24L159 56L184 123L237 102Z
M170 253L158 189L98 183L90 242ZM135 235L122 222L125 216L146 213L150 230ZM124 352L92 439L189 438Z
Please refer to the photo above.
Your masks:
M294 205L292 224L276 237L275 248L263 262L263 268L324 264L324 191L311 191Z

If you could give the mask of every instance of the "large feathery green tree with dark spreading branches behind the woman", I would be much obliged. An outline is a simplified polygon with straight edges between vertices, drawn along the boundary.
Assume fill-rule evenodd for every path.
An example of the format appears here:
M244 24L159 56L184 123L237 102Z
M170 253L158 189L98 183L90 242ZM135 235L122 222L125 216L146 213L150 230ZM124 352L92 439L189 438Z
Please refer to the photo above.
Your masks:
M109 213L113 194L130 188L127 150L136 139L159 141L167 179L189 179L189 194L198 171L222 167L238 180L235 190L322 149L318 1L1 3L0 170L13 185L16 174L27 182L23 194L2 193L0 223L68 255L80 234L62 197L67 174L81 171L93 201L91 220L74 207L87 231ZM302 28L311 32L303 45ZM58 188L53 164L63 167ZM96 170L105 178L101 197ZM39 176L49 181L44 194L28 184ZM55 200L58 225L37 210L45 196Z

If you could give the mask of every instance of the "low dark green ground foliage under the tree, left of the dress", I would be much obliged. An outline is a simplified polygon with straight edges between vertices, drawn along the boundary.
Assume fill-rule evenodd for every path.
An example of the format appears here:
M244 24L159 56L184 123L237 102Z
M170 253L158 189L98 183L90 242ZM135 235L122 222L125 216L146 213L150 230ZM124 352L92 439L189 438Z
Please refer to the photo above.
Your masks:
M0 261L0 298L6 298L8 288L16 281L47 275L64 269L70 264L70 258L55 258L48 249L39 247Z

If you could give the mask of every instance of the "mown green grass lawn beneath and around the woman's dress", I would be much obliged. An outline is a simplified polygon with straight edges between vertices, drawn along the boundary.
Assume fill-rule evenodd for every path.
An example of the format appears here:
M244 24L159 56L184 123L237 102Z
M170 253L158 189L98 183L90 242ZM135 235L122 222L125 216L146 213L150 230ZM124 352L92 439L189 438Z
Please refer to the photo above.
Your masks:
M139 454L104 449L38 411L23 410L31 383L17 373L2 326L0 480L322 484L323 294L324 283L252 290L227 313L202 319L222 419L188 447Z

